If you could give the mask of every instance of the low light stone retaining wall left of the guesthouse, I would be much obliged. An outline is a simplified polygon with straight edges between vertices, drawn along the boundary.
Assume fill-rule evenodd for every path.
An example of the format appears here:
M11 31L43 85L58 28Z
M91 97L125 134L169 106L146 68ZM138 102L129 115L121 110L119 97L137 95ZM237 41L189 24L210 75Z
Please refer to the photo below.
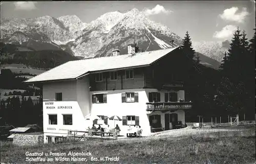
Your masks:
M31 134L15 134L13 137L13 145L15 146L41 146L44 144L44 135Z

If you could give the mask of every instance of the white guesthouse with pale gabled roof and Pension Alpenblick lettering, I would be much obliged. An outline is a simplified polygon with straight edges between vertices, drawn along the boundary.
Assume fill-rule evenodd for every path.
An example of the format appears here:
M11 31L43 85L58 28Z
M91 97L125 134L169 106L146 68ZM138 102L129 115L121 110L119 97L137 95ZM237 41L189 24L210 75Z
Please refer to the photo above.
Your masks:
M142 135L152 129L185 124L185 75L180 47L69 61L25 83L42 87L45 142L65 137L68 130L86 131L93 124L140 125ZM121 120L111 120L118 116Z

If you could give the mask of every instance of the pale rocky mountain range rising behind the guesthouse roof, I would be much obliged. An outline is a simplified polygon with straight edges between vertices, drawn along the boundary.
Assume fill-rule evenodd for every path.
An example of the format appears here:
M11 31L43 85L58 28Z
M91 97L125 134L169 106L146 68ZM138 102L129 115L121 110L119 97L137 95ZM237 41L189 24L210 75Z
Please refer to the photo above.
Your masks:
M120 54L127 53L127 45L136 40L144 51L176 47L182 38L168 27L148 19L143 12L132 9L127 12L108 12L86 24L76 15L54 18L42 16L27 19L1 18L1 42L25 46L34 50L63 50L82 58L111 56L113 49ZM174 40L174 43L170 43ZM223 51L221 46L212 43L194 43L200 55L217 59ZM205 57L202 57L205 58ZM205 63L206 61L202 61ZM208 65L212 65L209 63ZM212 60L216 64L216 61ZM217 62L218 63L218 62ZM218 66L214 66L218 67Z

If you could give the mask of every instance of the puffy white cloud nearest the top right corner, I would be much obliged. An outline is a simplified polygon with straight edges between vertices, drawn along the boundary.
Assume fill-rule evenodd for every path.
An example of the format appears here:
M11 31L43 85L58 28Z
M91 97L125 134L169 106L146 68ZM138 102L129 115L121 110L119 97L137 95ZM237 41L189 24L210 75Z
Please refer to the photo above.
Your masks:
M231 7L230 9L225 9L220 17L224 20L235 21L238 23L243 23L245 17L249 14L247 9L243 7L242 11L239 13L238 7Z

